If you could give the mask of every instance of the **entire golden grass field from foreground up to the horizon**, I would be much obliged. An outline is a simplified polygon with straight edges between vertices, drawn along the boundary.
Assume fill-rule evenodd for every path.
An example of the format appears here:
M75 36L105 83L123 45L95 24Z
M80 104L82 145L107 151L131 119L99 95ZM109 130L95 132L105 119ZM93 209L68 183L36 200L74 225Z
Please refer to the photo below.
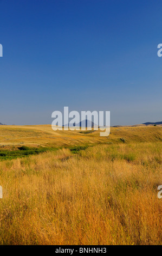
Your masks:
M0 126L0 244L161 245L161 142L161 126Z

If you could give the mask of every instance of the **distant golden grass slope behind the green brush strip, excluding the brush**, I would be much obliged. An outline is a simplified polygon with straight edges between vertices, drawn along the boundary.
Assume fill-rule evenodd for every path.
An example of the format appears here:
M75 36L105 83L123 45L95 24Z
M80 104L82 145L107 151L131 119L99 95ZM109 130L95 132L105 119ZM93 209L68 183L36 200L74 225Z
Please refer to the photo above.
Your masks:
M51 125L0 126L0 147L17 148L24 144L29 147L69 147L73 145L99 143L161 142L162 127L111 127L108 137L100 137L99 131L53 131Z

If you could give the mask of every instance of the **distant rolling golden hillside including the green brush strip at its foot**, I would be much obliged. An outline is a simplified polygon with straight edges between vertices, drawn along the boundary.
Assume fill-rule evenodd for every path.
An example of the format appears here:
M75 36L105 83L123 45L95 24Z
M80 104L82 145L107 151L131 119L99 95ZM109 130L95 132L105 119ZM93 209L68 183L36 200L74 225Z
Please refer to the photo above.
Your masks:
M0 160L11 160L60 148L73 149L98 144L160 142L161 140L161 126L112 127L108 137L100 137L100 131L94 130L53 131L50 125L1 126Z

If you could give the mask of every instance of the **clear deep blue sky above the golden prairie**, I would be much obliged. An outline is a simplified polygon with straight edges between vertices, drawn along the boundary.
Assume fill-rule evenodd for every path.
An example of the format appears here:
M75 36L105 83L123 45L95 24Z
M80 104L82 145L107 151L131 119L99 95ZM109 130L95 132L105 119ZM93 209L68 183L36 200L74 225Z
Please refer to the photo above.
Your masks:
M111 125L162 121L161 0L0 0L0 122L111 111Z

